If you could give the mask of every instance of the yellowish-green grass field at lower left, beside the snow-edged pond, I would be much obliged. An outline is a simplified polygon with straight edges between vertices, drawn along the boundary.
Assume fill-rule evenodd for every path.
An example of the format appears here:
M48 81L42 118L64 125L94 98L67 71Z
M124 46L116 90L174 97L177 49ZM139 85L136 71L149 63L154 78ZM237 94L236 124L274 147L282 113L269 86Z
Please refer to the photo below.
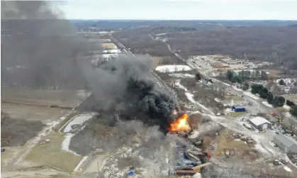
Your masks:
M35 165L52 165L67 172L72 172L77 164L82 160L81 156L65 152L62 150L62 133L50 133L42 139L50 139L50 143L36 145L27 155L26 161Z

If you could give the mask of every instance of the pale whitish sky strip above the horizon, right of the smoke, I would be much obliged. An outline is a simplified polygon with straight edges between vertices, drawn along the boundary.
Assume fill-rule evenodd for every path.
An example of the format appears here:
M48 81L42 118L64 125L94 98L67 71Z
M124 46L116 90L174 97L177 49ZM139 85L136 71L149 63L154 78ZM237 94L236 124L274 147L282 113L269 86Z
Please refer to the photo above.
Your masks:
M59 8L71 19L297 20L297 0L68 0Z

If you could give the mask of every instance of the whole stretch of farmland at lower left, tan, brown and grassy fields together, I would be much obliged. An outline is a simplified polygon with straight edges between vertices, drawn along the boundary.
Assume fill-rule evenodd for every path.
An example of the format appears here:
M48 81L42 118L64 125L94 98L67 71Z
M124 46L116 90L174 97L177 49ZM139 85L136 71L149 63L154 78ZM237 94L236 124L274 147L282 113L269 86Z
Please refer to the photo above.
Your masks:
M1 96L1 146L6 146L7 150L1 157L2 169L53 165L73 171L74 165L77 165L81 157L61 150L64 139L62 133L47 134L50 133L50 127L56 126L62 121L61 118L65 119L65 116L84 101L89 93L76 90L4 88ZM51 142L35 146L42 138L50 139ZM31 148L33 150L30 152ZM74 158L70 155L74 155ZM59 165L60 163L53 161L64 156L63 160L73 164L62 162L62 165Z

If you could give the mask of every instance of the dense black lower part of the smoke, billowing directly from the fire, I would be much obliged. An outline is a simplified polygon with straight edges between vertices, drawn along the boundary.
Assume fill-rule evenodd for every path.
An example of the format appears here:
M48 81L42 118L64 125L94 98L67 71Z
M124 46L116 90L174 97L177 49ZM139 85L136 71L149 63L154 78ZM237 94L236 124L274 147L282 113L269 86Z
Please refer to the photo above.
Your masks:
M152 59L146 55L120 55L101 67L82 64L96 104L93 109L134 116L145 123L167 128L167 119L176 108L173 96L152 81ZM100 76L100 77L98 77Z

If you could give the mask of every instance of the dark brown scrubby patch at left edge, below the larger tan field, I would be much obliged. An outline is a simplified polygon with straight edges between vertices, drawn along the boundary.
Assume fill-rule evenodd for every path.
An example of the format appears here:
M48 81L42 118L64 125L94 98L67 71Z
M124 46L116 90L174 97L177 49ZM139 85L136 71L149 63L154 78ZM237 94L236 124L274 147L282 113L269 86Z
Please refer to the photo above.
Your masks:
M24 145L34 138L43 128L40 121L26 121L15 118L1 119L1 146L11 147Z

